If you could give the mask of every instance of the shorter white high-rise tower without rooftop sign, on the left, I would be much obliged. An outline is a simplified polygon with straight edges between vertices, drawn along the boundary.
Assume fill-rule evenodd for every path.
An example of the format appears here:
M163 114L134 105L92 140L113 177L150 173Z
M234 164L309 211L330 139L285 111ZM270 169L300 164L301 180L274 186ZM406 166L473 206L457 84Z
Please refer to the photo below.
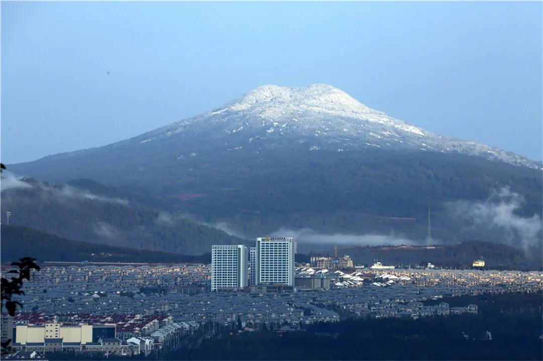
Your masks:
M247 287L247 246L211 247L211 291Z

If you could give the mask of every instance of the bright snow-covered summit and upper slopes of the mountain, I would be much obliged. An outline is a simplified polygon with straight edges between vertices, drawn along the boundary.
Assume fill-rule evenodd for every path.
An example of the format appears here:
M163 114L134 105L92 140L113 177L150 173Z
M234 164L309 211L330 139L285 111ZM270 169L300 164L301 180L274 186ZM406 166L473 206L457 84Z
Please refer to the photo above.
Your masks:
M338 152L369 147L462 153L539 168L540 163L518 154L473 141L427 132L363 105L326 84L307 87L265 85L241 98L197 117L136 137L139 143L164 139L223 138L223 150L273 147L294 141L308 150ZM201 145L201 144L200 144ZM195 156L199 146L180 157ZM220 150L217 144L216 150Z

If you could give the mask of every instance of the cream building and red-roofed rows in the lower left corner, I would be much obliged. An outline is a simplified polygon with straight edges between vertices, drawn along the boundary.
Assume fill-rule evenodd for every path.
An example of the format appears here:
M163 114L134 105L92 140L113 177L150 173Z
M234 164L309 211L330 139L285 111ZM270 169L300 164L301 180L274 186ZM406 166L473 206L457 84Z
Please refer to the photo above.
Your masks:
M198 329L197 321L174 322L171 315L18 313L10 319L14 352L74 352L131 356L178 346ZM4 326L4 325L3 325ZM4 340L3 340L4 341Z

